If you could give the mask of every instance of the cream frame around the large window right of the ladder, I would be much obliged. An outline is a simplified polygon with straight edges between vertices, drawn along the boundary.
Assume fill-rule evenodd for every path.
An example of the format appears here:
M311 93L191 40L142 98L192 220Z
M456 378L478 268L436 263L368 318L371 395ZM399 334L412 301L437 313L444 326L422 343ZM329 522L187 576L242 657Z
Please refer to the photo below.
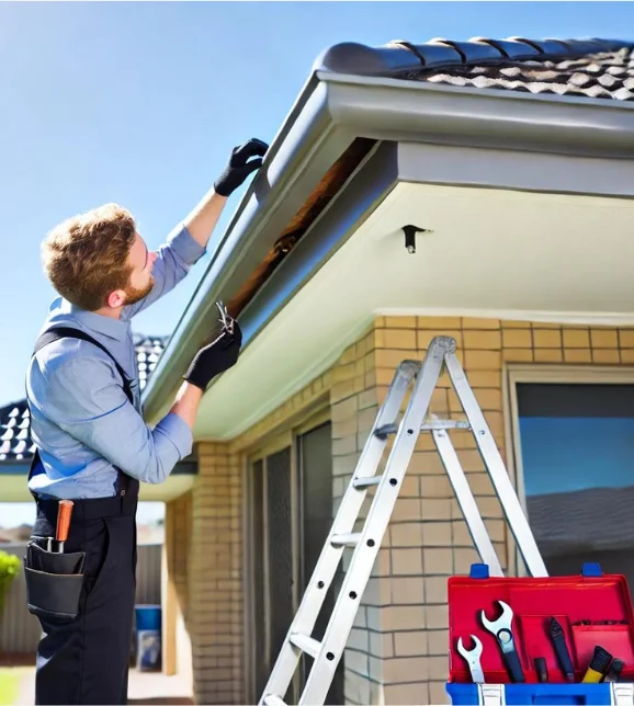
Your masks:
M518 405L518 384L553 385L633 385L634 366L591 364L535 364L513 363L502 371L502 399L505 420L505 445L507 468L516 488L520 505L528 517L522 444ZM520 550L509 527L508 534L509 576L529 576Z

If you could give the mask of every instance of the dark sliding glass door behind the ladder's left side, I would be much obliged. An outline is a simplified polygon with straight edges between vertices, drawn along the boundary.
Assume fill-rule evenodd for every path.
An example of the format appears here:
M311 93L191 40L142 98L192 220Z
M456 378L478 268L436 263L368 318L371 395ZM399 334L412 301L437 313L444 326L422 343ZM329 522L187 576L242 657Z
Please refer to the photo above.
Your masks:
M253 456L249 474L251 674L259 699L332 525L329 421L283 435ZM313 637L320 639L335 605L337 579ZM304 656L285 703L296 703L312 665ZM343 659L325 704L343 703Z

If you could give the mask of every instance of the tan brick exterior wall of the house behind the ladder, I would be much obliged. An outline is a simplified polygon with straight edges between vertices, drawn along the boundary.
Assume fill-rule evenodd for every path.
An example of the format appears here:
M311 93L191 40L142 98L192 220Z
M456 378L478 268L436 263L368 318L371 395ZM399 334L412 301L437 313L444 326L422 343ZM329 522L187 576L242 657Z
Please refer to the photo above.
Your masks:
M332 423L332 492L337 501L405 357L422 360L435 335L452 335L505 463L503 366L512 363L626 365L634 331L472 318L377 317L326 374L230 444L201 444L192 492L188 624L196 703L247 703L245 625L249 577L244 568L244 469L248 454L326 400ZM460 419L443 376L431 411ZM475 441L452 441L505 570L513 551ZM421 435L363 596L344 656L346 699L353 704L448 703L446 580L478 561L431 436ZM256 698L259 694L256 695Z

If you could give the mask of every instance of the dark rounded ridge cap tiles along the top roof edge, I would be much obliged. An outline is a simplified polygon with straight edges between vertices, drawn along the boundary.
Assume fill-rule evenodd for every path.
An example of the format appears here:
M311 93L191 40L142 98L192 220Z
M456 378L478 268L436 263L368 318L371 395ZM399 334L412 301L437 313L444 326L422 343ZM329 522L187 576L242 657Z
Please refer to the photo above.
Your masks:
M499 64L520 60L566 59L634 48L625 39L530 39L511 36L505 39L472 37L454 41L433 37L423 44L393 39L378 47L342 42L325 49L313 65L314 71L356 76L397 76L412 70L442 67Z

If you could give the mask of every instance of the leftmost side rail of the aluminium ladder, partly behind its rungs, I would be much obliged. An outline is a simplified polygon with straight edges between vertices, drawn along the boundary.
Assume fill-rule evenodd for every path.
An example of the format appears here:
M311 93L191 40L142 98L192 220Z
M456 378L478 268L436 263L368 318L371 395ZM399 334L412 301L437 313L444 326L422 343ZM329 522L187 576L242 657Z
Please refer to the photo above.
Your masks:
M346 549L346 545L335 546L332 544L332 537L335 535L352 533L352 528L359 517L365 499L365 490L367 488L355 488L354 480L371 477L376 472L387 444L387 436L377 436L375 432L385 424L394 423L398 418L407 390L419 368L420 364L417 361L403 361L394 374L385 401L378 410L374 426L364 444L355 471L341 499L339 510L336 513L321 554L302 596L299 607L287 630L286 638L280 649L267 685L262 691L259 701L260 706L269 697L283 699L288 690L301 657L301 650L293 645L292 637L295 634L309 637L315 629L315 623L326 600L328 589L335 579L341 555Z

